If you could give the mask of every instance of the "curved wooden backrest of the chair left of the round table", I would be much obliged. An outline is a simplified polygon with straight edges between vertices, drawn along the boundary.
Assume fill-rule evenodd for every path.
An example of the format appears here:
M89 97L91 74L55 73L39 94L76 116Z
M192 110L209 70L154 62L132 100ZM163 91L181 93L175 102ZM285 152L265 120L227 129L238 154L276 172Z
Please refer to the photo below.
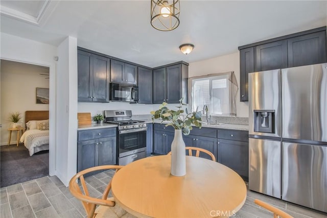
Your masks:
M91 167L91 168L84 169L84 170L78 172L71 179L71 181L69 181L69 191L71 191L72 195L75 198L82 201L83 207L87 213L87 217L94 216L94 212L96 210L97 205L113 207L115 205L115 202L107 200L109 191L111 189L111 181L109 182L106 189L104 190L101 199L92 198L92 197L90 197L89 192L87 190L87 186L86 186L86 183L84 180L84 175L89 172L94 172L94 171L98 171L98 170L106 170L106 169L115 169L116 171L118 171L122 167L123 166L115 166L115 165L104 165L104 166ZM82 187L79 187L79 184L77 183L78 180L81 182Z

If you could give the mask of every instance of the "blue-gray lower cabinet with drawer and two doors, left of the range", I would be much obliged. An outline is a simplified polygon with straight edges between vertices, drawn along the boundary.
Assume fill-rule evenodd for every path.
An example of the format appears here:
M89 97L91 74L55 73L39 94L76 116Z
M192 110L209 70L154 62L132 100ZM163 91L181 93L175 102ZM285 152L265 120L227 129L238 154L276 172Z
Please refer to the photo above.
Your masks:
M116 128L78 131L77 171L116 164Z

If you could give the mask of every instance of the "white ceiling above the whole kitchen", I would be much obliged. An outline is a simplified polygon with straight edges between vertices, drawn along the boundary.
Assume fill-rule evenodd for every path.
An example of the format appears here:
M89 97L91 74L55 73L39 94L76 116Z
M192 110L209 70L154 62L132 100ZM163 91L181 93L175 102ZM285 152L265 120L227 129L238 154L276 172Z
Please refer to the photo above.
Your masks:
M327 25L327 1L181 1L180 25L169 32L150 25L150 0L0 4L1 32L54 46L69 35L80 47L149 67L213 58L237 52L238 46ZM193 43L194 51L182 54L182 43Z

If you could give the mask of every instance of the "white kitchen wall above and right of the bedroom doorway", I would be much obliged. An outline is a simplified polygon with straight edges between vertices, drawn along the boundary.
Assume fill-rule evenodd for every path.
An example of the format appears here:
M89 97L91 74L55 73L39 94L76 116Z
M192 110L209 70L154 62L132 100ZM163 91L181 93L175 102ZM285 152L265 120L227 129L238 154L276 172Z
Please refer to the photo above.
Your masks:
M57 48L41 42L33 41L18 36L1 33L0 57L6 60L33 63L50 68L50 151L49 173L56 175L55 171L55 96L56 96L56 61ZM1 102L1 101L0 101ZM60 136L60 134L58 134Z

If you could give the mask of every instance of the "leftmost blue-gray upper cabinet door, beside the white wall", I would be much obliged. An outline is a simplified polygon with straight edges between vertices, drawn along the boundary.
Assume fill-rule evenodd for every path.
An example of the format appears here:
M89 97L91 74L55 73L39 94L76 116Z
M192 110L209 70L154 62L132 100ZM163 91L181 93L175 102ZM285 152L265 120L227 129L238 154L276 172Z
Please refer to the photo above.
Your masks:
M77 50L78 101L92 101L93 55Z

